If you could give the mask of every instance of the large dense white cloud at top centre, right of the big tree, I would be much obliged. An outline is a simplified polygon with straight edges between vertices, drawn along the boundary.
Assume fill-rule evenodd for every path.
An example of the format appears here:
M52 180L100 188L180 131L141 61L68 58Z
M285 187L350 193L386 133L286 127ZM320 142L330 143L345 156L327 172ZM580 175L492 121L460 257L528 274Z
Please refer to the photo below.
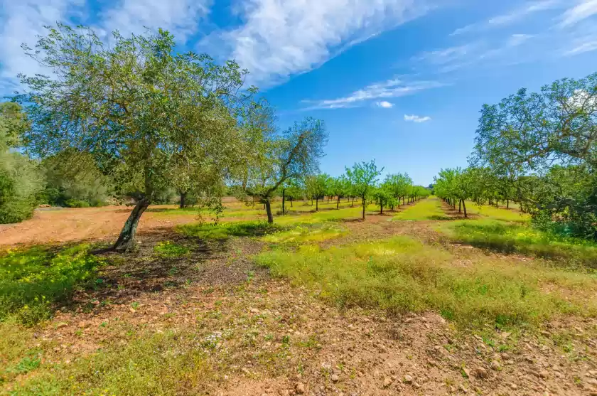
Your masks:
M242 26L220 31L203 46L223 47L251 71L250 82L274 85L325 63L366 38L424 14L414 0L247 0Z

